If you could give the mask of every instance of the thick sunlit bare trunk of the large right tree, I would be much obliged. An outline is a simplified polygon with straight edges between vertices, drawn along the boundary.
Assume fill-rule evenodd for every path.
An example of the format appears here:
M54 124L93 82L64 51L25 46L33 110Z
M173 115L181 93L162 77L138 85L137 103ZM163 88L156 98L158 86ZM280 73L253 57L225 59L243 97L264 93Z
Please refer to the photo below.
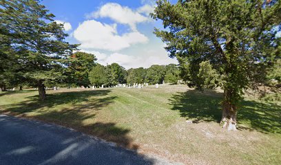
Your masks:
M236 114L237 107L230 101L231 91L225 90L224 101L222 103L222 128L227 129L228 131L236 131Z

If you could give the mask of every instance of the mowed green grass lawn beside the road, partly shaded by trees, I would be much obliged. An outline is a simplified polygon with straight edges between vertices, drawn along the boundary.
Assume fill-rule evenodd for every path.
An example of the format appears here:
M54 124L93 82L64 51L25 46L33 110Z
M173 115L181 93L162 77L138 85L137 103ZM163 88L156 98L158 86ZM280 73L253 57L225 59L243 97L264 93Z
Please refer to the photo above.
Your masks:
M186 85L160 89L60 89L0 93L0 113L68 126L139 153L185 164L280 164L280 102L247 98L238 131L220 128L222 93ZM187 124L186 120L194 123Z

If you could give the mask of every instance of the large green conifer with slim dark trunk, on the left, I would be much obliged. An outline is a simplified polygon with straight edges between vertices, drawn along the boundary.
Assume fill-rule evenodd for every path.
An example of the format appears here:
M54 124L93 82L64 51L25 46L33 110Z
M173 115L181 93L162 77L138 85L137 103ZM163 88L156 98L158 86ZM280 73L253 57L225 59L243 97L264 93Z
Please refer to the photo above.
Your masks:
M61 79L61 63L78 45L64 41L67 34L63 24L56 23L54 15L39 0L2 0L0 17L1 40L10 43L10 48L1 47L1 52L12 56L13 66L17 61L24 80L36 85L44 100L43 82Z

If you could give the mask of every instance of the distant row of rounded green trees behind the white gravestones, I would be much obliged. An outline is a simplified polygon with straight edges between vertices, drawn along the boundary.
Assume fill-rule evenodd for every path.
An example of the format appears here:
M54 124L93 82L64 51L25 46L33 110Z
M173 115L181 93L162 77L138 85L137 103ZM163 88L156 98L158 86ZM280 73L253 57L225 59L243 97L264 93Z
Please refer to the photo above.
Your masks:
M96 65L89 73L91 85L114 86L122 83L177 83L180 79L179 68L176 64L169 65L152 65L145 69L139 67L136 69L125 70L117 63L103 66Z

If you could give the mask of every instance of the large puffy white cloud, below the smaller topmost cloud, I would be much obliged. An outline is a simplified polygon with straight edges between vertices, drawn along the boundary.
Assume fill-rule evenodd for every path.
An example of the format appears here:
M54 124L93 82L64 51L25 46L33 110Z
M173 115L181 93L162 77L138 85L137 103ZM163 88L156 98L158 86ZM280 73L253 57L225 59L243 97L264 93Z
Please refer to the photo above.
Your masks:
M144 34L134 31L118 35L116 24L108 25L95 20L84 21L74 30L73 36L83 49L118 51L132 44L147 43Z

